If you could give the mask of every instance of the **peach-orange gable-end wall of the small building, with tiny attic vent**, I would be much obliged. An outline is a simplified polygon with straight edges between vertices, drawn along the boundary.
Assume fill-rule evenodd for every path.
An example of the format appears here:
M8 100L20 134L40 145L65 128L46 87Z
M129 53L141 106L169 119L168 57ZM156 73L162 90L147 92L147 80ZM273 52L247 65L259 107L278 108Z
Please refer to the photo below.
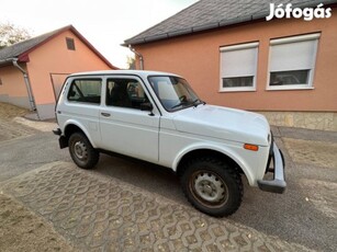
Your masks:
M75 50L67 48L66 37L74 38ZM42 118L54 115L55 95L50 73L111 69L69 30L31 51L29 57L29 77Z

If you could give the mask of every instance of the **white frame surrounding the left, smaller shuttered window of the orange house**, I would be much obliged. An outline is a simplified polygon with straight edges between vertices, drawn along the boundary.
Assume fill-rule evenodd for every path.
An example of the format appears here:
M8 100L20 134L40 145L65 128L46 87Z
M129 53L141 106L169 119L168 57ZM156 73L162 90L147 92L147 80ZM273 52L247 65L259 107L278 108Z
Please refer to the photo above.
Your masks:
M222 66L222 54L226 51L235 51L235 50L243 50L243 49L256 49L255 51L255 60L256 65L254 66L254 76L252 76L252 85L251 87L233 87L233 88L224 88L223 87L223 69ZM257 69L258 69L258 55L259 55L259 43L252 42L252 43L245 43L239 45L232 45L232 46L223 46L220 47L220 92L246 92L246 91L256 91L256 77L257 77ZM236 77L245 77L245 76L233 76L233 78ZM231 78L231 77L229 77Z

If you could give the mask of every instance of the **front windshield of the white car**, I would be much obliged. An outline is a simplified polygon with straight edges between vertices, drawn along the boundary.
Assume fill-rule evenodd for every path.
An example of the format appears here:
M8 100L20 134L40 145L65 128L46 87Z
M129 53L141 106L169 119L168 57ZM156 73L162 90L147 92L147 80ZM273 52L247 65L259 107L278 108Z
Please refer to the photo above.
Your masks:
M179 77L155 76L148 78L162 106L168 112L198 106L203 102L198 98L189 83Z

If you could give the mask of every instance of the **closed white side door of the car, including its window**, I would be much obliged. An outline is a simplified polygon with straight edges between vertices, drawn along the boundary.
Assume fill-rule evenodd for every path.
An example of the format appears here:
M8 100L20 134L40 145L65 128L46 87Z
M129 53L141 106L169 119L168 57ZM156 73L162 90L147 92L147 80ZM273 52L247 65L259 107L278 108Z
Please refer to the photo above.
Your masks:
M104 149L158 162L159 113L142 111L149 103L138 77L111 76L105 80L105 104L100 112Z

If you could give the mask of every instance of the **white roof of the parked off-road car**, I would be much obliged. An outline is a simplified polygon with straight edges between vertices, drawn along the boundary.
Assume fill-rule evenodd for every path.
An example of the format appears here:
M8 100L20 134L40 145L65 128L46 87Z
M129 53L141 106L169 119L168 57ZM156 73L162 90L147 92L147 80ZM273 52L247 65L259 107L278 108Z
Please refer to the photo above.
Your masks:
M132 75L147 78L148 76L177 76L170 72L164 71L148 71L148 70L101 70L101 71L86 71L86 72L76 72L71 73L69 77L79 77L79 76L109 76L109 75Z

